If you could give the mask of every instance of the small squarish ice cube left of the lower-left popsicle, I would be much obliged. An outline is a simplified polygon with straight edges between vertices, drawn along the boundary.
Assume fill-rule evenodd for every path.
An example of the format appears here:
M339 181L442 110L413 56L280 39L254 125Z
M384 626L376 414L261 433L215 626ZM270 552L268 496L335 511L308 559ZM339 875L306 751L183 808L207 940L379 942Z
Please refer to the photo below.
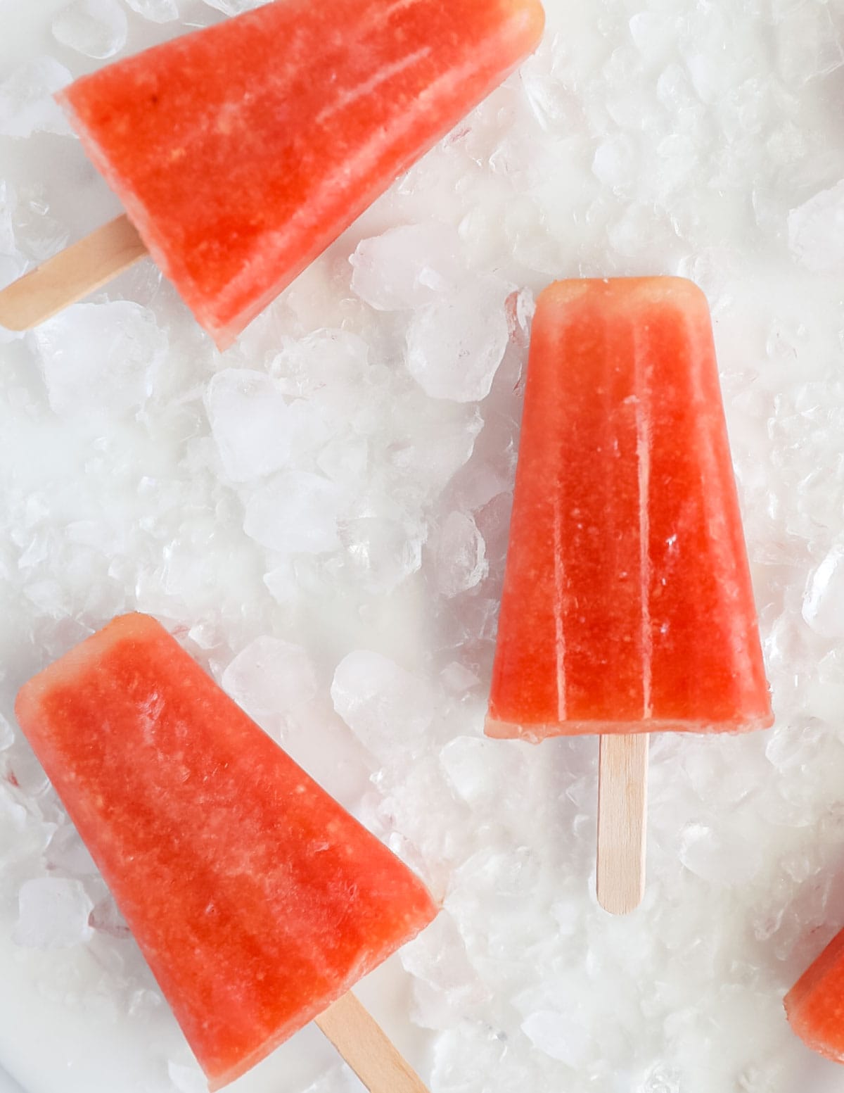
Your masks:
M31 949L67 949L92 936L94 904L78 880L39 877L21 885L13 938Z

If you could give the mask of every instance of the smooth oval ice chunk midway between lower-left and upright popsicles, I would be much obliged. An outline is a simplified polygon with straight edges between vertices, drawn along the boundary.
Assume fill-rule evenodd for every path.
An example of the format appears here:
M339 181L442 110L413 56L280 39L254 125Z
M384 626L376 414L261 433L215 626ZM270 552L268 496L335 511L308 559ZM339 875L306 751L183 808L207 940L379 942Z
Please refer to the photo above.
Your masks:
M358 649L337 665L331 684L334 709L378 759L407 755L431 724L426 684L380 653Z

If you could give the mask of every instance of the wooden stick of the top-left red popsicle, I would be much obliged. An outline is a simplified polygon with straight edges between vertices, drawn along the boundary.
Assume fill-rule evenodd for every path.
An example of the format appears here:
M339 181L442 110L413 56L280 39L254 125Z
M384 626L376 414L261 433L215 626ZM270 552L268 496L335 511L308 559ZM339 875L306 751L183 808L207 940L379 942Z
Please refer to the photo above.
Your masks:
M48 258L0 292L0 326L31 330L75 304L146 254L127 215Z

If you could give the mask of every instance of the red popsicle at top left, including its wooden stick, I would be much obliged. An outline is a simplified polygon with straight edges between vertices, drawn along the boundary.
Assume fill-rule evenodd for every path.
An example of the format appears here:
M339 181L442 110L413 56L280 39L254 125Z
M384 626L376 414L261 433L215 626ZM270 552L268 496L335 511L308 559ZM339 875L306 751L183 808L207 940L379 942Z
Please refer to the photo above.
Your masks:
M145 246L225 348L543 23L539 0L275 0L83 77L59 98L140 239L100 230L0 294L0 321L41 321L114 275L112 244L117 269Z

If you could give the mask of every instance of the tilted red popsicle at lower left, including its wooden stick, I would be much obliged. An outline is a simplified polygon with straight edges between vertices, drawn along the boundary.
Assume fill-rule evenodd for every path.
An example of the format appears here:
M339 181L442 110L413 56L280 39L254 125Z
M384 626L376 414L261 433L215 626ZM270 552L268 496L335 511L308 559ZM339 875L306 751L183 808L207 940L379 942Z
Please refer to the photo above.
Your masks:
M316 1018L371 1090L424 1091L346 992L436 904L157 622L116 619L15 712L212 1090Z

